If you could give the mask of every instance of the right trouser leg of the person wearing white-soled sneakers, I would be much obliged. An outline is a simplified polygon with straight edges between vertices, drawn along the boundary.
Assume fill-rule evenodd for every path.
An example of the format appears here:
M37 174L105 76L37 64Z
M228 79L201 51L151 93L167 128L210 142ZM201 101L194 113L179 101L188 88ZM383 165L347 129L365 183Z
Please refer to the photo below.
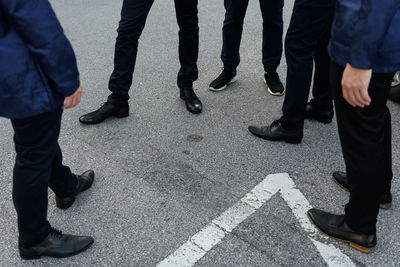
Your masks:
M284 0L260 0L263 16L263 65L265 72L274 73L282 57Z

